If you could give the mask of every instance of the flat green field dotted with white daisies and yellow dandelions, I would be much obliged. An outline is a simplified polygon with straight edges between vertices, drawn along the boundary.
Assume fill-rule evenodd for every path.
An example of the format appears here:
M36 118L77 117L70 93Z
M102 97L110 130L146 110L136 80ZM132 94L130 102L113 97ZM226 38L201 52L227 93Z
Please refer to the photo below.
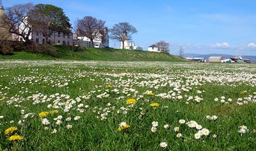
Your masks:
M255 150L255 68L0 61L0 150Z

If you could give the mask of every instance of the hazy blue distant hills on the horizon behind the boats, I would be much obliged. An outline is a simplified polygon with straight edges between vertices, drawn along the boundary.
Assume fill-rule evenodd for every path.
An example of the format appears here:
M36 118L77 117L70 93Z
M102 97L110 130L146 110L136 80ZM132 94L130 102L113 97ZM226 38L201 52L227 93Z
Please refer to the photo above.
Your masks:
M196 57L196 58L209 58L210 56L223 56L225 59L228 59L230 57L236 57L234 55L230 54L184 54L184 58L187 57ZM251 62L256 63L256 56L242 56L244 59L250 59Z

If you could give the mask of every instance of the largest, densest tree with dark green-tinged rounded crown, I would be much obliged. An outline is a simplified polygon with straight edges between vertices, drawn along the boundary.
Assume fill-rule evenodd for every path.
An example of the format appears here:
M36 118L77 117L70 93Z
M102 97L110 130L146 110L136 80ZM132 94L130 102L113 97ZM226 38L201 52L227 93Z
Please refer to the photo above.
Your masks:
M71 33L71 24L63 9L51 4L36 4L29 12L28 22L33 27L33 32L42 33L45 44L52 33L61 32L64 35Z

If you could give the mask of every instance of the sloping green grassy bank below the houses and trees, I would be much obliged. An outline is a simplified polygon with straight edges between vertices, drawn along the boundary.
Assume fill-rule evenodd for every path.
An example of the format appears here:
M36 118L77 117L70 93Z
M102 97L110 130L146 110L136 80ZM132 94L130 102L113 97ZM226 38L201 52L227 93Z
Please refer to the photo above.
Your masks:
M29 52L13 52L12 55L0 55L1 60L101 60L101 61L172 61L180 62L186 61L178 56L170 54L163 54L158 52L147 51L129 51L124 49L97 49L97 48L84 48L73 49L71 47L56 45L57 56L52 57L46 54L35 54Z

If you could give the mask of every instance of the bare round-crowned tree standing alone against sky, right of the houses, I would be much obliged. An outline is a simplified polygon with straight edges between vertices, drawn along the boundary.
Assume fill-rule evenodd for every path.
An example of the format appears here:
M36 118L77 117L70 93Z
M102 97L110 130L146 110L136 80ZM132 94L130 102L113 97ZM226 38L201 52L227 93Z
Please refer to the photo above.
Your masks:
M138 30L134 28L128 22L120 22L115 24L113 28L109 29L111 33L111 38L114 40L118 40L122 42L124 49L124 42L126 40L132 40L132 36L134 33L138 33Z

